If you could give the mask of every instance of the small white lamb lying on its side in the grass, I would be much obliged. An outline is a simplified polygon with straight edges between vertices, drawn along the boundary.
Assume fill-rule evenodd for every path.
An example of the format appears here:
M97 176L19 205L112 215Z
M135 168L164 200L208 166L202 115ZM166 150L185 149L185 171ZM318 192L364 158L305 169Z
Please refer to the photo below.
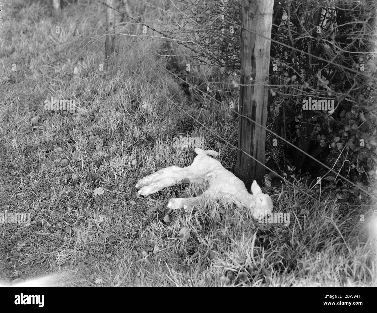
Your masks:
M238 207L250 209L253 217L258 219L272 212L273 203L269 195L262 193L254 180L250 194L241 179L225 169L221 163L208 155L218 156L213 150L195 149L198 154L194 162L187 167L169 166L156 173L140 179L135 187L141 195L153 194L164 187L185 182L208 183L208 189L198 197L172 198L167 207L170 209L184 208L186 211L207 197L213 200L230 200Z

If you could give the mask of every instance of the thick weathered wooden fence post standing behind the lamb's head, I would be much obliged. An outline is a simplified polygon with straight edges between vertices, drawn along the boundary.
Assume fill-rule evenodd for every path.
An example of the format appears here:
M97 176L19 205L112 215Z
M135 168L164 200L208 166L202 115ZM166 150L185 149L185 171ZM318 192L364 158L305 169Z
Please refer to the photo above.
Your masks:
M241 87L239 113L266 126L274 0L241 0ZM251 79L250 79L251 78ZM252 85L252 86L243 86ZM239 117L238 148L265 163L266 131ZM238 151L235 174L249 189L253 179L261 185L264 166Z

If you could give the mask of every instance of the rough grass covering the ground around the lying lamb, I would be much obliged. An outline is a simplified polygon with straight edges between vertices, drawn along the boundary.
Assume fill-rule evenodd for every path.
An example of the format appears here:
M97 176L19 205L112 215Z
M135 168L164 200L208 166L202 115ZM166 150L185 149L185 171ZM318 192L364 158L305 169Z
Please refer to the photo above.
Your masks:
M376 224L358 194L339 200L323 187L319 204L274 183L267 193L275 212L289 214L288 225L258 223L209 200L166 217L170 198L200 186L140 196L133 186L141 177L192 162L193 149L173 148L179 134L203 137L232 169L236 151L184 111L231 143L237 119L209 98L202 105L185 96L164 69L171 60L156 54L160 41L119 36L118 53L105 61L104 25L96 2L67 6L58 17L43 2L8 3L0 28L0 212L28 212L31 224L0 226L0 278L58 273L60 285L106 287L376 286ZM75 99L78 108L44 110L51 97ZM318 198L306 180L295 183Z

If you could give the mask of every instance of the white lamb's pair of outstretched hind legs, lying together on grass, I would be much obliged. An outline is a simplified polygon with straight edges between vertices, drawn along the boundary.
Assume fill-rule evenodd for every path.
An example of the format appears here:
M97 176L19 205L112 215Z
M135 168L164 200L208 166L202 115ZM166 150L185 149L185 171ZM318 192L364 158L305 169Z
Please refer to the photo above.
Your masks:
M173 165L162 168L156 173L140 179L135 187L140 189L138 191L139 194L149 195L167 186L173 186L185 182L190 182L190 173L187 168Z

